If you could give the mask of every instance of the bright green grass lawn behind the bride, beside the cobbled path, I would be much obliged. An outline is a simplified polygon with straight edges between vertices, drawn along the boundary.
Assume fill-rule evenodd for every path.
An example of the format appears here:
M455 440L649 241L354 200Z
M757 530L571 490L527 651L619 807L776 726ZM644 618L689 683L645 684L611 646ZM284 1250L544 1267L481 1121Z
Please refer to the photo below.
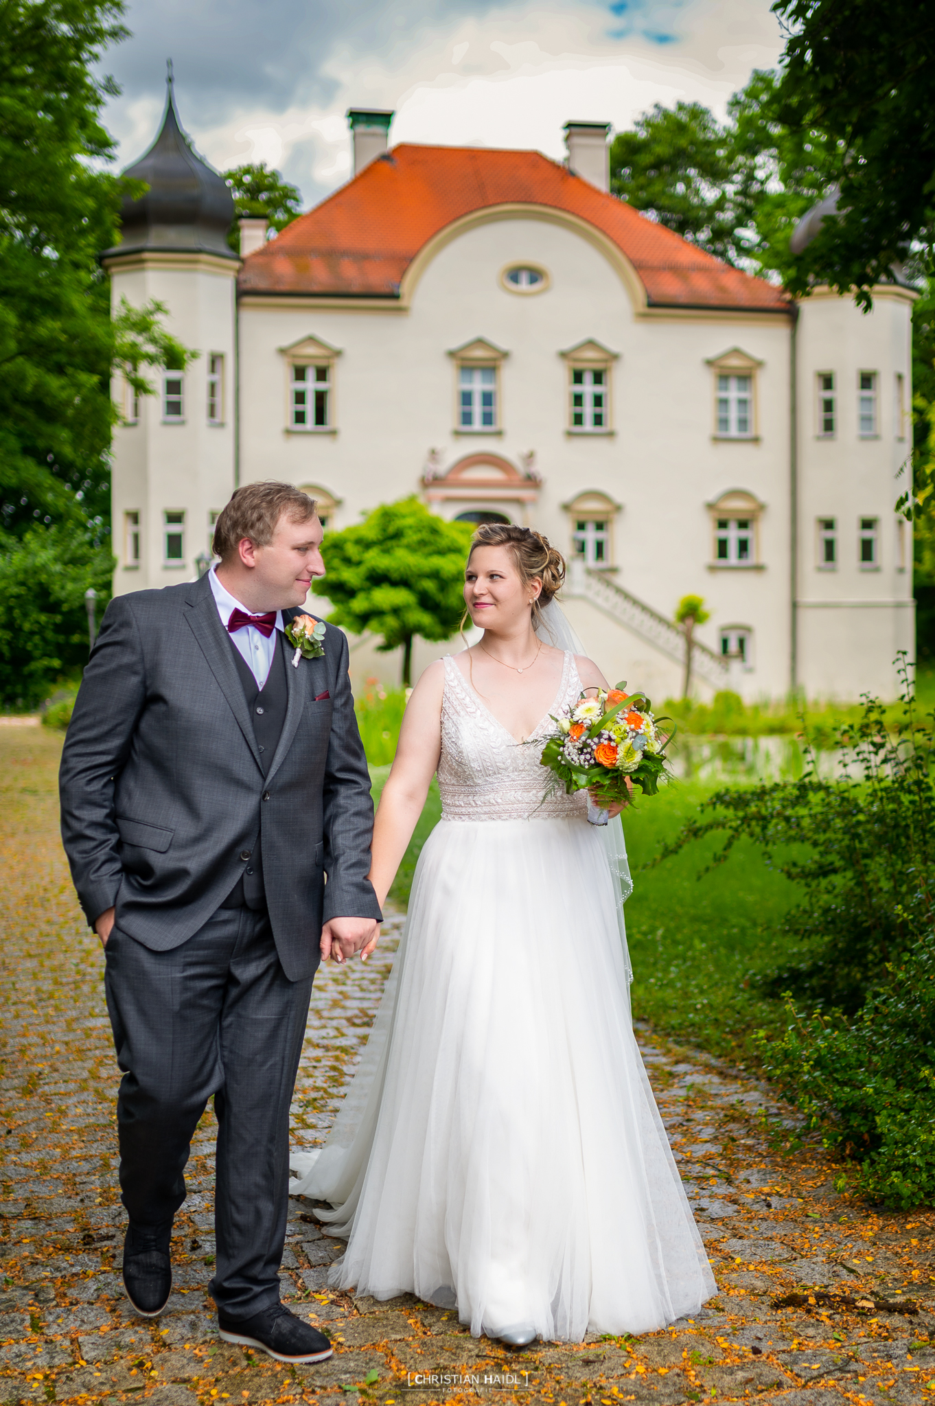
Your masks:
M388 766L374 768L374 800ZM780 1002L765 1001L745 986L789 953L772 936L796 901L793 884L766 868L754 845L741 842L727 863L697 879L717 838L695 844L673 859L652 866L671 839L714 787L675 783L652 799L638 800L624 817L634 891L627 900L627 934L633 959L633 1012L661 1029L681 1035L711 1053L740 1062L752 1057L749 1035L783 1019ZM391 890L405 905L416 860L441 814L436 782Z

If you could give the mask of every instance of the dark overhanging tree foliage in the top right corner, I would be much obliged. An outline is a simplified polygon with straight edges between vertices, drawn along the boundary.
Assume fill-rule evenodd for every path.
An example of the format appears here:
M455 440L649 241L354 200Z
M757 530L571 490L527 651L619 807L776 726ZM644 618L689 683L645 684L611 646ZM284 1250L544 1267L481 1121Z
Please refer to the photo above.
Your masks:
M776 0L789 38L776 115L834 145L838 217L789 271L842 294L887 280L935 222L935 8L925 0Z

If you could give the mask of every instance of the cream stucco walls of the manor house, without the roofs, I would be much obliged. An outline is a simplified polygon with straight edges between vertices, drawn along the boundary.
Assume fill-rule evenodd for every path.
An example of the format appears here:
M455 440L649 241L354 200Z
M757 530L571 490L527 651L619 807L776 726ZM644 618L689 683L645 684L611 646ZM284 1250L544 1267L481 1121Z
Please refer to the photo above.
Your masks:
M394 299L238 304L221 260L145 259L111 263L115 301L165 301L201 359L184 422L153 398L117 433L115 536L141 523L138 560L125 531L117 543L118 592L194 575L236 482L312 486L328 529L419 494L446 517L536 526L576 558L567 610L614 681L679 692L666 621L693 593L711 613L702 696L894 693L894 654L914 641L910 530L893 510L908 291L877 290L868 315L823 290L769 312L657 308L605 235L534 204L444 228ZM212 354L224 415L208 423ZM479 425L461 423L465 387ZM184 512L181 560L166 557L169 510ZM418 647L416 665L440 652ZM352 658L356 679L398 679L368 641Z

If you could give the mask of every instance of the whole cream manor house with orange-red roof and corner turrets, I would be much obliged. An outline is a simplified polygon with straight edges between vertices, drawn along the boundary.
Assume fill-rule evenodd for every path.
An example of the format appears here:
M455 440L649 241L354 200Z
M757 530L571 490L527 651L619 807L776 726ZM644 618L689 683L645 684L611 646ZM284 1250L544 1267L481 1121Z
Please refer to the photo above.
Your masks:
M531 150L389 145L349 112L354 174L276 238L240 221L172 91L128 174L114 305L152 298L200 357L114 394L117 593L194 578L236 484L280 478L326 529L416 494L534 526L612 679L678 695L679 599L710 610L695 690L896 693L914 648L911 290L799 302L609 194L609 128ZM354 682L398 682L352 641ZM416 669L446 647L419 643Z

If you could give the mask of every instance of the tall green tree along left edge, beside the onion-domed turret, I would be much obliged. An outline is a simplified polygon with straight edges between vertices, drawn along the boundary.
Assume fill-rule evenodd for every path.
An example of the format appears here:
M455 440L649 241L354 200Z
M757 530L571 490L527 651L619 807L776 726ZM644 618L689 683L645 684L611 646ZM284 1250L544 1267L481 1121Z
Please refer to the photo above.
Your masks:
M0 700L31 706L87 658L84 591L105 602L111 371L186 356L157 304L111 321L117 93L93 67L125 37L122 0L0 0ZM136 193L135 187L132 193ZM184 364L177 361L176 364Z

